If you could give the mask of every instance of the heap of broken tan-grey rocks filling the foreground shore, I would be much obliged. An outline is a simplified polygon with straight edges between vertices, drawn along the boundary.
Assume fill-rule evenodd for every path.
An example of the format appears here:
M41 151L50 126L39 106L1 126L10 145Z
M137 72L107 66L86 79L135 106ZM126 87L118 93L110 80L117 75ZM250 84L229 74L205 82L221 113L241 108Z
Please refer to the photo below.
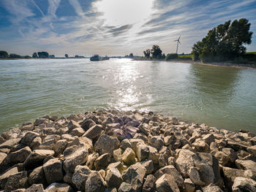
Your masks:
M0 137L1 191L256 191L256 135L116 110Z

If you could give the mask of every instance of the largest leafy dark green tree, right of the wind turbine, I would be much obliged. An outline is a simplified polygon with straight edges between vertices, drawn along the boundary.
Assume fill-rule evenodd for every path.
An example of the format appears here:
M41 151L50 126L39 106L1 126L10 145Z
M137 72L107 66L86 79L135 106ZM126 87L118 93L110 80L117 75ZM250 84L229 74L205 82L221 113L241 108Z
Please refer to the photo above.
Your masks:
M202 41L192 47L193 59L203 62L225 61L243 55L246 51L244 44L252 42L250 23L245 18L230 20L208 31Z

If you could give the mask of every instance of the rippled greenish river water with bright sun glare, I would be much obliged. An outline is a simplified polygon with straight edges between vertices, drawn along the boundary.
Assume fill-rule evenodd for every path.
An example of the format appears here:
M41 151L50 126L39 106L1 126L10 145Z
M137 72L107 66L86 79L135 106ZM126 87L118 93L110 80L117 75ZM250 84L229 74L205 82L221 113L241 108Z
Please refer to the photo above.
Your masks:
M43 115L98 109L175 115L256 132L256 70L164 61L0 61L0 132Z

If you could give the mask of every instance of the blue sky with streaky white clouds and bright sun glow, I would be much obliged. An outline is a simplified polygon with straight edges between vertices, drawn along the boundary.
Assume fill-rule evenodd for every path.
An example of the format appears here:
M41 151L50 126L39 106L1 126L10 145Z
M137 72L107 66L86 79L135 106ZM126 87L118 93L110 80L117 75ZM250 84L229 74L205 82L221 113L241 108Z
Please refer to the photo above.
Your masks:
M256 51L256 0L0 0L0 50L20 55L190 53L227 20L251 23Z

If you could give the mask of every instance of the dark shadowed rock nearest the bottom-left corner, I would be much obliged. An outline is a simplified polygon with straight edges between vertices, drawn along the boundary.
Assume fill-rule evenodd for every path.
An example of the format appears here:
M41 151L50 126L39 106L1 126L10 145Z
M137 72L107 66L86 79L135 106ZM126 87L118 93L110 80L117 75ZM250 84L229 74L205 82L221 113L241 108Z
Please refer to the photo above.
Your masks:
M4 191L14 191L18 188L25 188L27 185L27 172L18 172L10 175L4 187Z

